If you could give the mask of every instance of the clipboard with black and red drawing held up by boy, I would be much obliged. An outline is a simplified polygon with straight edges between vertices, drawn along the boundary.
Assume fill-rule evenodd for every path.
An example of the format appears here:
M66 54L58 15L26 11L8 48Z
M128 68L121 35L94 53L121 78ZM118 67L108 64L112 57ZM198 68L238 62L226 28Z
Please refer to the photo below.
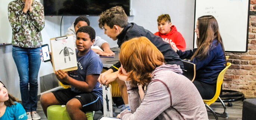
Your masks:
M53 70L77 70L77 56L73 35L50 39Z

